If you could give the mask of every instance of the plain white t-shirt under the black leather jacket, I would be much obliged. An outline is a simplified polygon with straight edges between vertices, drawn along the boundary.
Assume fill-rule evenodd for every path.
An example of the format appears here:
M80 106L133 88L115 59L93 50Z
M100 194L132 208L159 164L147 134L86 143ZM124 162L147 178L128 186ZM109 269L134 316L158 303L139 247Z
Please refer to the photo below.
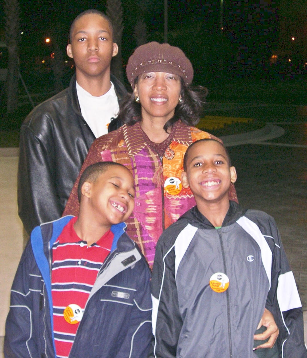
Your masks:
M81 114L95 137L107 134L111 118L116 118L119 111L114 84L111 82L109 91L100 97L92 96L77 82L76 87Z

